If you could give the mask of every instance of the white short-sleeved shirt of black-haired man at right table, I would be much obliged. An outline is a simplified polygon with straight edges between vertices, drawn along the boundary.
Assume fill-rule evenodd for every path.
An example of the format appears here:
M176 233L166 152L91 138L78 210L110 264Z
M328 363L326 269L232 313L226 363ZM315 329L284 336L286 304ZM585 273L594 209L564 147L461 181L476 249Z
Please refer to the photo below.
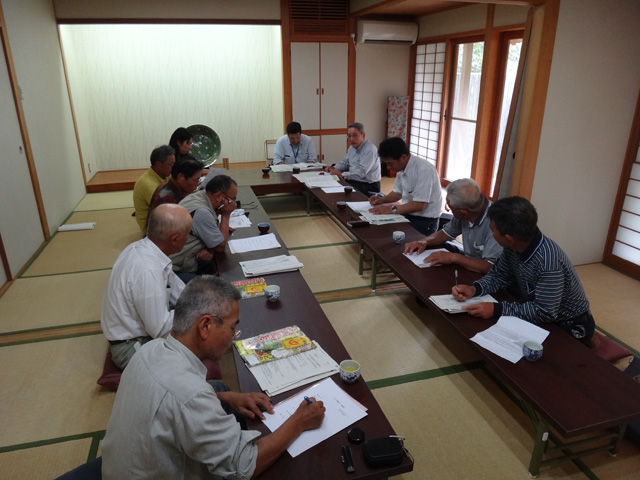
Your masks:
M402 203L425 202L425 207L411 215L440 218L442 189L436 168L424 158L411 155L404 170L396 175L393 191L402 195Z

